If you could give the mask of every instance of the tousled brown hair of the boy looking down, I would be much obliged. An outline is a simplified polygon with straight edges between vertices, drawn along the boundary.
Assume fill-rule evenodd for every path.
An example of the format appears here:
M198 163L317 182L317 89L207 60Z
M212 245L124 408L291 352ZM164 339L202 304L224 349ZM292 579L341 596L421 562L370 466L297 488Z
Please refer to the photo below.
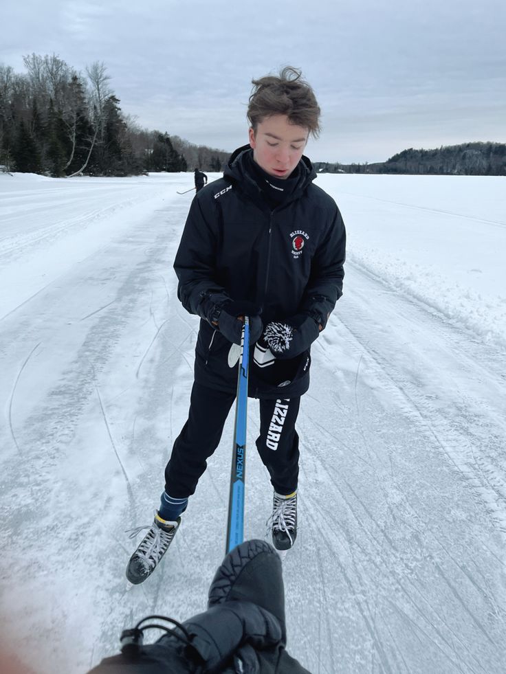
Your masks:
M318 137L320 106L300 70L286 66L279 76L266 75L252 80L252 84L248 120L255 133L266 117L286 115L291 124L304 126L314 138Z

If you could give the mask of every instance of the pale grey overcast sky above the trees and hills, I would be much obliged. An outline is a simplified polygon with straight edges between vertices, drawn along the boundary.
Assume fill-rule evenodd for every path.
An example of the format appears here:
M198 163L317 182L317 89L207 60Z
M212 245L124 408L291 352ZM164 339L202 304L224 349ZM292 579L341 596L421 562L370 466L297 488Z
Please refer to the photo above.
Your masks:
M505 0L5 0L0 63L103 61L124 113L197 144L247 142L252 77L303 70L314 161L506 142Z

